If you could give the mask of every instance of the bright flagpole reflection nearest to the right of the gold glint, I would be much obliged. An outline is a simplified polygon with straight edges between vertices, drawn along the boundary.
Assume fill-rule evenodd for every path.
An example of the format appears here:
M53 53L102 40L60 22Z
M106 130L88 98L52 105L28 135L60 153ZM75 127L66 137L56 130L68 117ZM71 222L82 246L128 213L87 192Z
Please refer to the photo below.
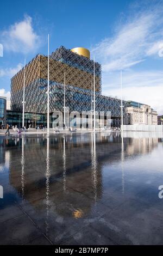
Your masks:
M91 133L91 157L92 157L92 185L93 185L93 192L95 196L95 203L97 199L97 160L96 160L96 134Z

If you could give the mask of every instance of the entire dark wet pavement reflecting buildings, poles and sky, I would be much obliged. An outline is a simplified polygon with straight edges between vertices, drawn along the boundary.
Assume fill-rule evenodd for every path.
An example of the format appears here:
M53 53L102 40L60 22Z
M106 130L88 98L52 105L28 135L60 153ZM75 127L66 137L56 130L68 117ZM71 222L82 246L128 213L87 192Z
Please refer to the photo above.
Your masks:
M0 245L163 244L162 135L21 135L0 143Z

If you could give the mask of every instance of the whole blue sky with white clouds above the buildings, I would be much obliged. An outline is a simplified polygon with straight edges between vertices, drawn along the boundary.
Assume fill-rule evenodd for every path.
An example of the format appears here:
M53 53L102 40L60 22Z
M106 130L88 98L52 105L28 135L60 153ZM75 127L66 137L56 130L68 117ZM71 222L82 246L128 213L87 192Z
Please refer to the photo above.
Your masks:
M0 95L37 53L86 47L102 64L102 93L147 103L163 114L163 2L128 0L1 1ZM0 53L1 54L1 53Z

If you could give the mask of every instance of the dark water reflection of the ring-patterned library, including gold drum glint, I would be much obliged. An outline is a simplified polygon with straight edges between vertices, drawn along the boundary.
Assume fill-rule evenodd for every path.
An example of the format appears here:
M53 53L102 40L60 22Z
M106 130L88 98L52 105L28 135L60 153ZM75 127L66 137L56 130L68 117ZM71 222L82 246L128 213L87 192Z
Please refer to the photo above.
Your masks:
M81 147L78 147L79 140L71 136L52 138L49 142L48 154L47 138L33 139L31 137L24 138L24 140L26 144L24 144L23 151L22 141L17 150L10 151L10 183L16 188L20 197L22 197L23 167L23 173L26 174L23 176L23 184L25 184L23 196L35 208L43 207L46 212L49 211L49 205L55 204L55 209L61 216L69 215L79 218L87 214L91 210L94 200L83 200L83 194L79 192L85 192L89 188L90 195L92 194L92 198L94 196L89 139L86 143L80 141ZM64 141L65 148L63 147ZM78 141L77 144L73 144L74 141ZM51 169L51 175L49 169ZM63 170L66 171L66 175L63 175ZM97 199L99 199L102 195L101 168L96 172L96 193ZM60 182L55 178L59 178ZM74 188L73 191L72 188ZM46 217L46 222L48 222L48 217Z

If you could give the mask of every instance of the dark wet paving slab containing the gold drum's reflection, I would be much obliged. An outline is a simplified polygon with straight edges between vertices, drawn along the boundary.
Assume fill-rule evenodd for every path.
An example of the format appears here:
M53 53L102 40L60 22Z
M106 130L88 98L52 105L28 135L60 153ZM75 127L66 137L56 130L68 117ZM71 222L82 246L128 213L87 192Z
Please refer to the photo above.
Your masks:
M109 211L107 206L93 202L70 188L48 197L48 201L45 198L33 203L37 208L27 204L21 208L53 244L68 239Z

